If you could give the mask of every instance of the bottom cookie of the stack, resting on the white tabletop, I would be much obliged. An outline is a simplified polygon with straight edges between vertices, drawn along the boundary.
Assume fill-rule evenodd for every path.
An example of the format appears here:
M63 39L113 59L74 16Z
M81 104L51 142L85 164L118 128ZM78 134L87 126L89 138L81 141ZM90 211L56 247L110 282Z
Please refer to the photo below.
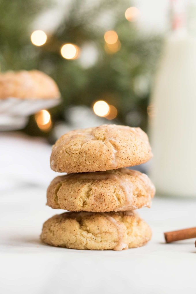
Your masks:
M49 245L90 250L135 248L150 238L150 227L133 211L65 212L46 220L41 233Z

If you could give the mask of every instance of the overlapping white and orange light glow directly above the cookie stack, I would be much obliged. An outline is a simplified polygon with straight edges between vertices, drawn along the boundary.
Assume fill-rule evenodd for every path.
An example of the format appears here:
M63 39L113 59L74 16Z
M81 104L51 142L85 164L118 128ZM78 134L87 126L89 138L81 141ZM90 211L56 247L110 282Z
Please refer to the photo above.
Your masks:
M117 109L113 105L109 105L104 100L96 101L93 105L93 111L97 116L105 117L109 120L117 116Z

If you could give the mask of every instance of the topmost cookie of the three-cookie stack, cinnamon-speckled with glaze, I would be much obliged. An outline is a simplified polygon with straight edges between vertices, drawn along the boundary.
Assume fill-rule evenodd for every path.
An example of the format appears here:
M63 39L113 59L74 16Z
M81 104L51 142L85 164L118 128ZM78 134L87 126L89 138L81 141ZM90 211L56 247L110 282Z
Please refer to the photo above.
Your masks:
M151 157L148 136L140 128L102 125L61 136L50 163L53 171L82 173L135 166Z

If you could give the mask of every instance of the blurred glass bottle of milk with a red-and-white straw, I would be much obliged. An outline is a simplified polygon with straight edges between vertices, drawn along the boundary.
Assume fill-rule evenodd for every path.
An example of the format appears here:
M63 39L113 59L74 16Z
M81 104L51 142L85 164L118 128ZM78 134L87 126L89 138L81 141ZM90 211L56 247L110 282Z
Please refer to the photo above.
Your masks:
M150 121L150 176L163 196L196 198L195 7L189 4L185 25L182 6L175 1L173 30L165 41L151 98L155 114Z

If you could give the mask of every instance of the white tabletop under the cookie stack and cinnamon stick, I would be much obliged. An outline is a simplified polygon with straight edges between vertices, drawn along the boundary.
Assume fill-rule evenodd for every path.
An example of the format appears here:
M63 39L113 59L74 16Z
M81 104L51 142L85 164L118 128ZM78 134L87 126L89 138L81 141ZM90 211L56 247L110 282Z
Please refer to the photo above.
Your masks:
M12 171L10 188L9 179L1 186L0 293L195 293L195 240L165 244L163 232L196 226L196 199L155 197L151 209L140 209L153 231L141 248L55 248L39 240L43 222L62 212L45 206L46 187L54 176L48 173L43 185L35 184L36 178L16 185Z

